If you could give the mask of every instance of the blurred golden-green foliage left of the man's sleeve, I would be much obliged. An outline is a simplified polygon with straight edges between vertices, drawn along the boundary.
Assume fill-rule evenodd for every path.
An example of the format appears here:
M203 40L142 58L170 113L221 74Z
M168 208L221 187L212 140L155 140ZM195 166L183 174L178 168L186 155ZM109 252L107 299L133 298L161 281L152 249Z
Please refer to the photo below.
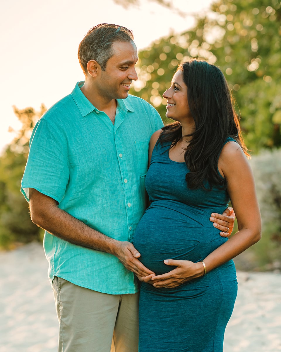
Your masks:
M18 136L8 145L0 157L0 246L10 247L16 242L27 243L38 240L41 230L29 216L28 203L20 194L20 182L28 155L28 141L31 131L46 111L44 105L39 112L33 108L14 113L22 123Z

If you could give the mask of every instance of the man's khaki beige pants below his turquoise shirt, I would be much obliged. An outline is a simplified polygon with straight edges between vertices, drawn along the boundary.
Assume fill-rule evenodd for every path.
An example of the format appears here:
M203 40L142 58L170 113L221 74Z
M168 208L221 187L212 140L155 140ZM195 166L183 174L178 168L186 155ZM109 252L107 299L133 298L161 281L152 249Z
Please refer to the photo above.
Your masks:
M55 277L59 352L137 352L138 294L109 295Z

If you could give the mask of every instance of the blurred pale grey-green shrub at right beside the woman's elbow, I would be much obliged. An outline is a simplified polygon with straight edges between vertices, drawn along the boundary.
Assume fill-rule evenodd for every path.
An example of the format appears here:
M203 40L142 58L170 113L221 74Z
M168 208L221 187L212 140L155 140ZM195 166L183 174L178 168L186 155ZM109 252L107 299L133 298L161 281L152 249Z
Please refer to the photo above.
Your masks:
M281 149L250 160L262 216L262 239L236 257L237 269L281 269Z

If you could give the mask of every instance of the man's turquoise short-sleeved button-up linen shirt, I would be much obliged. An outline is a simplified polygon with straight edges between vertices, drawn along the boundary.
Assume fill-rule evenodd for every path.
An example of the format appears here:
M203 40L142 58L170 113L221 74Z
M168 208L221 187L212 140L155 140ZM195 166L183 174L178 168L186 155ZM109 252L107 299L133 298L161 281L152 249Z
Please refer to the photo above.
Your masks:
M52 106L37 122L21 191L55 199L58 207L86 225L130 241L145 210L144 177L149 139L163 126L157 111L129 95L117 100L115 124L81 92ZM48 275L108 294L137 292L133 273L117 257L84 248L45 232Z

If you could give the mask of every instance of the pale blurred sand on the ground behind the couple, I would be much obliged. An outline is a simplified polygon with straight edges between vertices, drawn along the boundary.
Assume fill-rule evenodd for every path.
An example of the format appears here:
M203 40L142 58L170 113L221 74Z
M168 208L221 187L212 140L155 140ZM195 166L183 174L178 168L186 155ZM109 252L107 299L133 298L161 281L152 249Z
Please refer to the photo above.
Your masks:
M0 265L0 352L56 352L58 320L42 246L1 252ZM281 351L281 274L239 271L237 278L224 352Z

